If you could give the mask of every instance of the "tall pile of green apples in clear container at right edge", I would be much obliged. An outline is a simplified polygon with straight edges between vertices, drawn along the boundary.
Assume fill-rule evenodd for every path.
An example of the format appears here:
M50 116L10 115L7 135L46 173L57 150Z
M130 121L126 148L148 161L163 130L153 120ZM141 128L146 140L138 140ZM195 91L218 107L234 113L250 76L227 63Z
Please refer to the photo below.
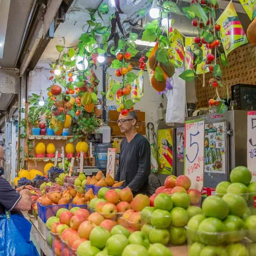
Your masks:
M216 195L203 201L203 213L187 224L190 256L256 255L256 182L251 180L249 169L238 166L230 174L231 183L220 182Z

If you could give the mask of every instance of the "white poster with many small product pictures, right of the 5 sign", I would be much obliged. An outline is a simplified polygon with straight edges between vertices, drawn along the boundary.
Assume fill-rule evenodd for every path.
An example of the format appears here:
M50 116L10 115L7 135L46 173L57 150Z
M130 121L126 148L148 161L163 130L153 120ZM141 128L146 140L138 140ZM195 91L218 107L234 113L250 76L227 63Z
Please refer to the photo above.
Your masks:
M225 174L227 155L225 122L205 125L205 172Z

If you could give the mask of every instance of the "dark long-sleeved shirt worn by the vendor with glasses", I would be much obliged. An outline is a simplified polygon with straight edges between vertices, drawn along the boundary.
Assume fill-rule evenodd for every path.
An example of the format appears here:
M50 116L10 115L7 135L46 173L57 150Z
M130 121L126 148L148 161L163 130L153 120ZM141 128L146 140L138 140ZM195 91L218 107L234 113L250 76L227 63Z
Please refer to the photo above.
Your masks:
M133 192L146 193L150 174L150 145L145 137L136 134L128 143L121 143L119 167L116 180L125 180L123 187L129 187Z

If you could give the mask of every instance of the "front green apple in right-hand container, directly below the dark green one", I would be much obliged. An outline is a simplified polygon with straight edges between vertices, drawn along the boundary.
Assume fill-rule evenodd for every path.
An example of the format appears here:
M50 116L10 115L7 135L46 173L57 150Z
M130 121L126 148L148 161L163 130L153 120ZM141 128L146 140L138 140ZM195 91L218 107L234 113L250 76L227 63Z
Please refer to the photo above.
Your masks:
M221 220L210 217L199 224L198 231L201 243L218 245L225 241L225 234L221 232L227 231L227 228Z

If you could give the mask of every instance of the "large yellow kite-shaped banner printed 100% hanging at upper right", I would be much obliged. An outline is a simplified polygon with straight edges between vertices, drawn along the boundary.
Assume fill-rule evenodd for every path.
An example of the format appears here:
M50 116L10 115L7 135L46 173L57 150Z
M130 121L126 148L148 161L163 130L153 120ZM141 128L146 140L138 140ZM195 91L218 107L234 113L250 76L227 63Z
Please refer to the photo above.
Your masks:
M221 26L220 37L226 56L237 47L248 43L232 2L228 4L216 23Z

